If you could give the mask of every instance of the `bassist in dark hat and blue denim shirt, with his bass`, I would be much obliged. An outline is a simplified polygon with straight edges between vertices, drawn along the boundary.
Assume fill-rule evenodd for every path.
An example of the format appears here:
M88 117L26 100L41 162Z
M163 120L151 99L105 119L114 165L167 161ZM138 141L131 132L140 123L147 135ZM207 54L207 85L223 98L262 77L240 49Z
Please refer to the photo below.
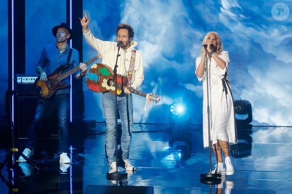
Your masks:
M68 75L70 75L72 69L76 69L71 74L74 73L74 77L80 79L87 72L87 65L79 61L79 52L70 48L68 44L68 40L72 38L71 32L72 30L65 23L53 27L52 34L56 37L56 43L43 48L40 60L36 64L36 72L40 76L35 84L40 98L35 117L30 126L28 142L23 151L27 158L34 154L37 134L42 122L52 106L56 106L59 127L59 163L62 171L67 169L62 167L63 164L70 164L71 162L67 155L71 87ZM25 162L26 160L20 156L18 161Z

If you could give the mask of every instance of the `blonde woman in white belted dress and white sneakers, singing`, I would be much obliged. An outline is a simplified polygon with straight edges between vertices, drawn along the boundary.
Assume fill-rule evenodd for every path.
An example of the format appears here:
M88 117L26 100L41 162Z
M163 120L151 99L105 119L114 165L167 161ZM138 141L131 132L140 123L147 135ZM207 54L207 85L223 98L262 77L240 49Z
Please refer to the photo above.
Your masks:
M237 143L237 133L231 86L228 80L229 54L223 50L221 38L216 32L207 33L202 45L202 55L196 59L195 74L199 81L203 80L203 144L204 148L209 146L208 96L210 145L217 160L212 173L232 175L234 174L234 167L229 155L229 144ZM208 71L206 71L206 65ZM206 72L208 75L206 75ZM225 155L225 165L222 151Z

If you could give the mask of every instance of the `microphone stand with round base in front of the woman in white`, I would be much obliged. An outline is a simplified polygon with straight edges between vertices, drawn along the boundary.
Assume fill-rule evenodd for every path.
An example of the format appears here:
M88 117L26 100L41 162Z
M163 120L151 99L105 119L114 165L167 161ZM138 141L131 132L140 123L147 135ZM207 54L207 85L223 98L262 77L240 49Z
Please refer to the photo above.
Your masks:
M200 182L203 184L220 184L221 177L220 173L213 173L211 171L211 135L210 135L210 108L209 108L209 72L208 72L208 53L207 53L207 45L203 45L206 53L205 58L205 67L206 67L206 84L207 84L207 115L208 115L208 143L209 143L209 173L208 174L200 174Z

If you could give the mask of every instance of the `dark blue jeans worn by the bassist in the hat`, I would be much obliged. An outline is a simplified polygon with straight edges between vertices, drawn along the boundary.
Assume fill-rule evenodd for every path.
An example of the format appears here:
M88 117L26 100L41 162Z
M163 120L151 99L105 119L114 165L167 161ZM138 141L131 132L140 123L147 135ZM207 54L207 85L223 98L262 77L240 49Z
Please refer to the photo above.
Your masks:
M52 112L52 106L56 106L59 126L59 152L66 153L68 151L68 131L70 118L70 95L69 93L61 93L52 96L48 100L39 99L36 108L35 117L31 123L28 142L26 147L35 149L37 145L38 132L46 116Z

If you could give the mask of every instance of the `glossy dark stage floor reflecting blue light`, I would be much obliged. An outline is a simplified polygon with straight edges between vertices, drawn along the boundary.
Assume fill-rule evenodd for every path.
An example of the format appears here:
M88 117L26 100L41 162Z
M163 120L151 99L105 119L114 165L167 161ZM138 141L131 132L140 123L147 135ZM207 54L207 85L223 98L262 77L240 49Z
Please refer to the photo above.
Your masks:
M105 186L116 186L115 193L134 193L142 186L153 187L155 194L292 193L292 128L253 126L251 130L239 129L239 143L231 146L235 174L222 178L218 185L208 185L200 181L200 174L209 173L209 150L203 149L201 126L192 125L189 130L181 129L177 133L170 133L169 127L133 125L130 161L136 171L128 172L125 180L107 179L105 126L97 124L93 130L79 129L79 133L71 134L72 164L67 172L60 171L56 156L47 154L45 157L40 152L33 157L39 170L27 163L17 163L12 168L4 166L1 193L91 194L103 193ZM177 137L183 133L187 133L187 138ZM16 142L18 146L23 143ZM56 143L56 140L42 142L49 148ZM6 153L7 149L0 149L2 162ZM211 162L213 168L213 155ZM119 192L121 187L130 190Z

